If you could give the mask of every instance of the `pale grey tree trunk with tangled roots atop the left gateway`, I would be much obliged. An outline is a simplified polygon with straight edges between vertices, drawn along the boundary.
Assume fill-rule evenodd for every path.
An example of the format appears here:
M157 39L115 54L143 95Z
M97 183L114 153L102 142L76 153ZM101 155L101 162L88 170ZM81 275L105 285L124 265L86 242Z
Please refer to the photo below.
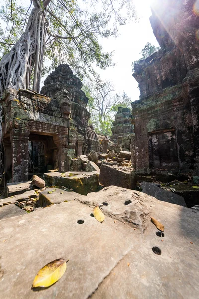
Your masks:
M30 88L33 69L32 89L39 92L48 24L41 6L34 4L25 32L0 61L0 96L8 87Z

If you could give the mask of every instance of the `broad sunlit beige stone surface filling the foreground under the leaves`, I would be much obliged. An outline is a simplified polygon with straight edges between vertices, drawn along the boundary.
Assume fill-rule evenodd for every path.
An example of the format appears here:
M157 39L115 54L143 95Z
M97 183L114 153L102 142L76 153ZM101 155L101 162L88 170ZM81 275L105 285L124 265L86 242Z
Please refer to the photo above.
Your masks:
M87 205L72 200L0 221L3 299L198 298L199 211L137 191L114 186L103 190L78 197L87 198ZM136 192L138 198L141 194L137 205L148 204L144 233L107 216L106 209L123 204L130 196L126 194L133 197L126 207L135 207ZM101 200L109 202L103 223L91 217ZM164 237L156 235L150 216L165 226ZM154 246L161 255L153 253ZM63 277L50 288L31 290L38 271L59 258L69 259Z

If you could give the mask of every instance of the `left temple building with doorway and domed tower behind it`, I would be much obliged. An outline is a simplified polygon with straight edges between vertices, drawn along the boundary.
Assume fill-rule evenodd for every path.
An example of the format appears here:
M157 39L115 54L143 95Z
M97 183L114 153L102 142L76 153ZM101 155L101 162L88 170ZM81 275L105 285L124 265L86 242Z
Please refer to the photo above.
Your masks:
M28 181L30 169L72 169L89 150L107 152L108 138L88 127L88 102L68 65L50 74L42 94L8 89L2 99L6 182ZM45 95L44 95L45 94Z

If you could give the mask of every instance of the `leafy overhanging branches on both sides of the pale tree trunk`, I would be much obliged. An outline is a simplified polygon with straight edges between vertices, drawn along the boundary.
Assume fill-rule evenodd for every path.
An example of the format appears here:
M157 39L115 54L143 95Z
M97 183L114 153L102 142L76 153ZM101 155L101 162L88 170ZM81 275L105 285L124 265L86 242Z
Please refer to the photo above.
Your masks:
M83 78L87 72L97 80L93 64L101 69L113 65L112 53L104 52L98 36L118 35L118 25L135 18L135 9L128 0L32 0L29 6L17 0L4 0L0 7L0 58L8 53L25 31L34 5L41 6L48 22L42 75L60 63L68 63ZM128 13L127 13L128 12ZM123 15L125 15L125 17Z

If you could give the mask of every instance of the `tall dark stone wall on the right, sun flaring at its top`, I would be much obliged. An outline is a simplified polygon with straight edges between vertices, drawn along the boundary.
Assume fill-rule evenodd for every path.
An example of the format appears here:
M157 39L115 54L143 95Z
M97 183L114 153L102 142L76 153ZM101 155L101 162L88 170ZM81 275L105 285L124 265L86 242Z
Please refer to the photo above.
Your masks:
M199 174L199 11L193 0L156 0L150 18L161 49L135 65L133 102L138 173ZM197 33L198 32L198 33Z

